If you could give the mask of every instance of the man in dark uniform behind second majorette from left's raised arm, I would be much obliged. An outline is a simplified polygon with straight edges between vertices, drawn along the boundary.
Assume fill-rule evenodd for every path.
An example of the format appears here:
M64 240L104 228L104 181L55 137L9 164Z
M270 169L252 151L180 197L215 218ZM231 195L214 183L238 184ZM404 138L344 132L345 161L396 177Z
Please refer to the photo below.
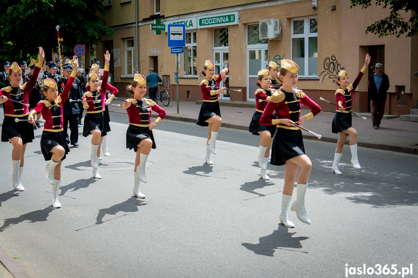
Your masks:
M73 71L73 65L68 63L62 66L63 76L58 80L58 91L61 94L65 85L67 84L68 78L70 78ZM76 73L77 74L77 73ZM63 130L65 135L65 140L67 144L71 144L74 147L78 147L78 113L80 109L78 106L81 106L79 102L70 102L70 100L80 100L82 96L82 90L80 82L77 78L74 79L73 85L71 86L70 93L67 100L64 102L63 106ZM68 137L67 129L68 123L70 123L70 137Z

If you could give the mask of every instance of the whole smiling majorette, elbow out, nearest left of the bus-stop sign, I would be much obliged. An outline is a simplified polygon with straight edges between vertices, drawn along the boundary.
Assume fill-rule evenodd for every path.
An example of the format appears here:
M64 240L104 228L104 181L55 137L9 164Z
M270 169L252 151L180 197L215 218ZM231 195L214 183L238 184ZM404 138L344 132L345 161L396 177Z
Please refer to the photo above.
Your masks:
M153 129L166 116L166 111L154 101L145 99L147 92L146 79L142 74L136 73L134 81L126 87L132 99L124 102L129 117L129 127L126 131L126 148L134 149L137 153L134 169L134 196L140 199L145 195L139 190L139 184L147 182L145 164L151 148L155 148ZM134 103L134 104L132 104ZM151 123L151 113L155 111L158 117ZM138 169L139 168L139 169Z

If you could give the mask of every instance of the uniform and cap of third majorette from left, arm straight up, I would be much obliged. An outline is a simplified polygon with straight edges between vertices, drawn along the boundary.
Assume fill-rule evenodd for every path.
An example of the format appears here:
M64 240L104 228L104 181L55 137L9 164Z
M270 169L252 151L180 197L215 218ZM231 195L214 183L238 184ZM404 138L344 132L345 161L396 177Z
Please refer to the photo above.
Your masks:
M101 136L105 136L108 132L107 126L108 123L105 123L105 118L103 116L103 111L105 111L105 101L106 101L106 90L108 87L108 76L109 76L109 65L105 65L105 70L103 72L103 81L102 85L97 89L97 91L91 92L88 91L83 95L83 99L87 99L89 108L87 110L86 117L84 117L84 127L83 127L83 136L87 137L91 134L93 130L100 130ZM89 77L97 79L97 75L94 72L89 74Z

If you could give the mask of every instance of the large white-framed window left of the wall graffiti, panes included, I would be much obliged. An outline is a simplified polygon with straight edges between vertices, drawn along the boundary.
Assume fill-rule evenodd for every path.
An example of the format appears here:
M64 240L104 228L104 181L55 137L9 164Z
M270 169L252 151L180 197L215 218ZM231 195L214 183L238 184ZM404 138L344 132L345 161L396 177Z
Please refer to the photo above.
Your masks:
M316 16L292 20L292 60L299 66L299 77L318 77L318 18Z

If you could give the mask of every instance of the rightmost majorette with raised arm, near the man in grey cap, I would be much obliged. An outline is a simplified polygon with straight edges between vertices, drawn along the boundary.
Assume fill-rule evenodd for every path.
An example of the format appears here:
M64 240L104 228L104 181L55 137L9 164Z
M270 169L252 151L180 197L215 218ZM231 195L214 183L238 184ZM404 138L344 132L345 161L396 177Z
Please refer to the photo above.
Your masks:
M366 54L366 60L363 68L358 73L354 82L350 84L348 74L345 71L340 71L337 76L337 85L341 86L335 91L335 100L339 106L337 112L335 112L334 119L332 120L332 132L340 132L340 136L337 141L337 148L334 153L334 162L332 163L331 172L337 175L341 175L341 171L338 168L342 156L342 149L348 135L350 135L350 150L351 150L351 164L355 169L361 169L360 163L357 159L357 131L351 126L351 107L353 106L353 92L357 88L358 83L361 80L364 72L370 63L370 56ZM348 111L344 110L347 109Z

